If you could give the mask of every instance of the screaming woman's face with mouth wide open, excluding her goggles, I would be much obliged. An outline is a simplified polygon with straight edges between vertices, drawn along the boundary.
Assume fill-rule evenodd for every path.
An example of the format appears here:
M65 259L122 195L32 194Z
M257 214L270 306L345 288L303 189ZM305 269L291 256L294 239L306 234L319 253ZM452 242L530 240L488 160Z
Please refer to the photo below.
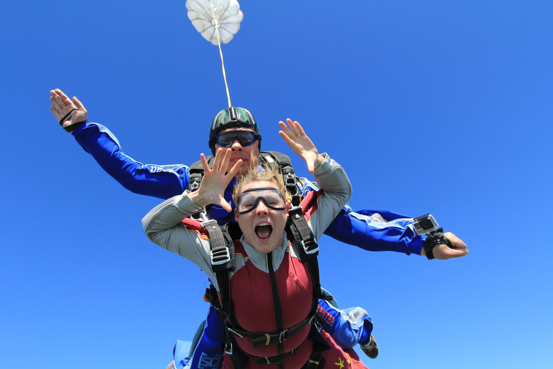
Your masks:
M262 187L277 188L273 182L260 181L248 183L243 191ZM234 218L248 245L265 254L282 245L289 205L285 207L285 210L274 210L263 201L258 201L257 206L246 214L238 214L238 210L234 210Z

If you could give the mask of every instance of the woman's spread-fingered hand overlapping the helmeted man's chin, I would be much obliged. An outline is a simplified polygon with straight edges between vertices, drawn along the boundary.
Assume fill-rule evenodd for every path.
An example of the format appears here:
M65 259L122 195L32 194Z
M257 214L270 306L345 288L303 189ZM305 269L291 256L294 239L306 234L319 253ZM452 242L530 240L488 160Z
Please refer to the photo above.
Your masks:
M213 168L209 169L206 157L200 154L202 165L204 166L204 176L200 184L200 188L189 195L190 200L198 206L204 207L209 204L221 205L228 212L232 211L231 204L225 200L223 196L228 183L238 172L242 160L238 160L234 167L228 171L228 163L231 160L232 149L226 149L223 157L223 149L219 148L213 160Z

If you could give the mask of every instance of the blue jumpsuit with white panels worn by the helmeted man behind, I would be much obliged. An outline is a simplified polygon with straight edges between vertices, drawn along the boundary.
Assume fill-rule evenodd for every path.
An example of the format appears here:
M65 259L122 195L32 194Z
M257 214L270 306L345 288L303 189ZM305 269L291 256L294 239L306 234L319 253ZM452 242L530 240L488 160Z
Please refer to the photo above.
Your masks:
M182 194L188 188L189 168L186 165L139 163L123 153L117 138L101 124L82 124L72 135L81 147L96 159L103 170L133 193L166 200ZM235 183L236 179L233 179L224 195L233 210L232 191ZM305 188L301 188L301 185L300 188L304 193L317 190L316 184L306 180L303 183ZM208 209L207 217L223 225L234 221L234 211L229 213L220 206L212 205ZM420 255L424 238L416 234L412 221L409 217L387 210L354 212L346 205L328 226L325 235L368 251L396 251ZM325 331L343 348L353 347L357 343L367 344L372 331L371 317L361 308L337 308L335 301L328 304L325 300L320 300L319 315ZM182 360L178 360L178 355L175 354L175 367L181 368L187 363L188 367L194 368L216 369L220 366L217 357L222 354L221 331L222 324L215 309L211 307L207 319L200 325L189 355L181 355ZM181 354L186 351L182 350L182 345L180 349ZM179 352L178 347L175 347L175 350Z

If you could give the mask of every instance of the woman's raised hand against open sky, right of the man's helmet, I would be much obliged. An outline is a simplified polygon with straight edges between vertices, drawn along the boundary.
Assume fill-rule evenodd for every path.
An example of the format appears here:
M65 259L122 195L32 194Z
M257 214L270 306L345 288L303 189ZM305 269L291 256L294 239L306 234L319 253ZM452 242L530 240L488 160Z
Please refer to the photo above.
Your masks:
M324 161L315 145L311 142L309 137L305 134L300 123L292 122L292 119L286 119L290 128L286 127L283 121L278 122L282 131L279 131L280 137L294 150L300 158L304 159L307 163L307 170L309 173L313 173L315 168L319 167Z

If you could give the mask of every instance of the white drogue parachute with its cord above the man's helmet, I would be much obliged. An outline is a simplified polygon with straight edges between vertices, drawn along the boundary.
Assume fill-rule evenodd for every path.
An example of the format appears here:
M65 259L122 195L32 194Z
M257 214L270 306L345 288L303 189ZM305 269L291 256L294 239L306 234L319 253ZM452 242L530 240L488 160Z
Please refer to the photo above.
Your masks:
M227 44L240 29L240 22L244 18L240 5L237 0L187 0L186 8L188 9L188 18L196 30L213 45L219 46L228 107L231 107L231 95L228 92L221 43Z

